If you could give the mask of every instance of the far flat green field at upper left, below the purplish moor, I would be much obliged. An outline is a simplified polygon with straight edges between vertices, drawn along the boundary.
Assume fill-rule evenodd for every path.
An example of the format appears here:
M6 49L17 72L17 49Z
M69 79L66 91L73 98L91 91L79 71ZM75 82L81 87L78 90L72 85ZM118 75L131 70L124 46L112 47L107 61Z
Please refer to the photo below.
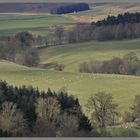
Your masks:
M28 31L37 35L48 35L54 25L71 25L75 21L59 15L0 15L0 36Z

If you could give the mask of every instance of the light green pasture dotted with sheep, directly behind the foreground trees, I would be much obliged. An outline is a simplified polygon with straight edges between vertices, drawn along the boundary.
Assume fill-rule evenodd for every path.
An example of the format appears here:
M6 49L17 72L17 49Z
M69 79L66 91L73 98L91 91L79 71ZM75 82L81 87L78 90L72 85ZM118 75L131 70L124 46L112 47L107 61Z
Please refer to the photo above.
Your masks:
M12 85L33 85L40 90L50 87L59 91L66 87L69 94L80 99L84 111L88 98L99 91L110 93L119 104L120 112L128 110L135 95L140 94L140 77L56 72L27 68L6 61L0 61L0 79Z

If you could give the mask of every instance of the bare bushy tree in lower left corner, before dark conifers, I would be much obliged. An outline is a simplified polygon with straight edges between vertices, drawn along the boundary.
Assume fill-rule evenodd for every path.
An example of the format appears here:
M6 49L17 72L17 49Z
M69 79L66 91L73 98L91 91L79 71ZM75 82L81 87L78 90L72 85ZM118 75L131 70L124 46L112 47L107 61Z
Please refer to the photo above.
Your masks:
M12 102L4 102L0 112L0 128L13 134L22 133L26 126L23 113Z

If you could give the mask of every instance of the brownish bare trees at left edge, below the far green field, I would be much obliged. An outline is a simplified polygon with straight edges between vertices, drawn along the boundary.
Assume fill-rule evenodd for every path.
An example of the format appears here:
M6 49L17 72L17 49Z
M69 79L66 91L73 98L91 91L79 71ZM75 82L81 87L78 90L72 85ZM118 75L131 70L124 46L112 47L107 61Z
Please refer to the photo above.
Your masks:
M20 65L37 66L40 61L37 49L65 42L65 30L62 26L56 26L54 38L55 40L48 40L47 36L34 36L29 32L0 37L0 59ZM60 69L63 69L63 66Z

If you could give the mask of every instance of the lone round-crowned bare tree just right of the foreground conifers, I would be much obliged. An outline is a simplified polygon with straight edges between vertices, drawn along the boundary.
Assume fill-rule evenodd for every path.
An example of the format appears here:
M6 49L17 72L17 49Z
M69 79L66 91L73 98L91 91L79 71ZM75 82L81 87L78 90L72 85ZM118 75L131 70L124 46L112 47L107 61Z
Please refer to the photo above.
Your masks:
M92 110L92 122L101 132L106 134L106 127L115 124L117 113L117 104L113 103L112 96L104 92L97 93L88 101L88 108Z

